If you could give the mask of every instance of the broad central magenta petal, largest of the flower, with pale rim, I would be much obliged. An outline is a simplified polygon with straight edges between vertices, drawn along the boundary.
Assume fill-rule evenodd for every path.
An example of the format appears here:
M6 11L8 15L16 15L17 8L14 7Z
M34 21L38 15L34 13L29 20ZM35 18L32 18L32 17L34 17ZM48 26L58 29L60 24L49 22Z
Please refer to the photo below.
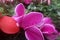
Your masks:
M22 27L28 27L31 25L38 24L42 21L43 15L39 12L30 12L24 16Z

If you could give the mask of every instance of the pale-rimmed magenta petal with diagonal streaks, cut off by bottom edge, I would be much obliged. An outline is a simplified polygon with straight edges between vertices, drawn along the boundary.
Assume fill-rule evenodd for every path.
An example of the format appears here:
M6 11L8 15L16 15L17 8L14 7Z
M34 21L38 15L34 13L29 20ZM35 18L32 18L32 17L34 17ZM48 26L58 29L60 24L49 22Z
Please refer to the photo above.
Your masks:
M44 40L42 32L36 26L29 27L25 30L27 40Z

